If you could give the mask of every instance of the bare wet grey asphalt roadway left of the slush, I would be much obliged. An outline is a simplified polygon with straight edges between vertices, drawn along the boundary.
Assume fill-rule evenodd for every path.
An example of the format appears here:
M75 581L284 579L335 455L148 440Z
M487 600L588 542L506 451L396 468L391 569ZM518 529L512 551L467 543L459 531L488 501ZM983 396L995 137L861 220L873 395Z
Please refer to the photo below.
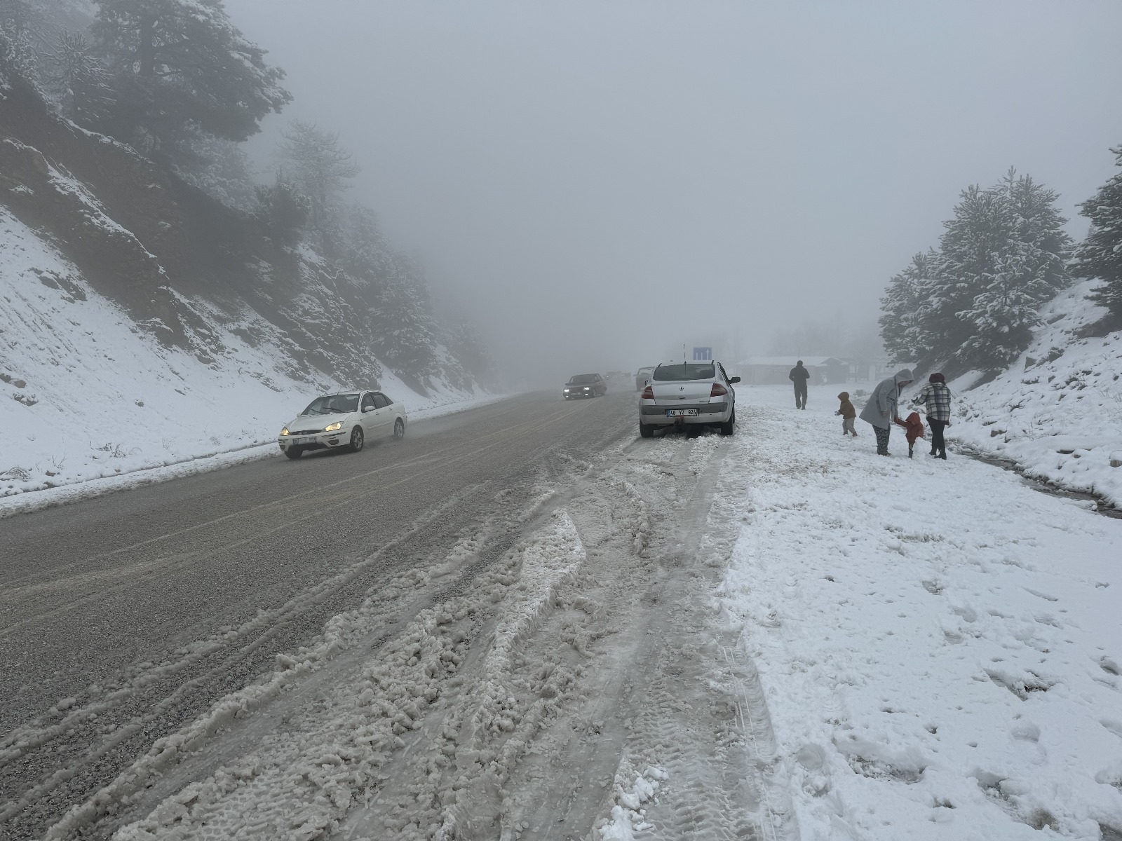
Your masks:
M359 454L269 459L0 520L0 838L42 837L379 576L440 556L512 489L634 434L629 392L530 395Z

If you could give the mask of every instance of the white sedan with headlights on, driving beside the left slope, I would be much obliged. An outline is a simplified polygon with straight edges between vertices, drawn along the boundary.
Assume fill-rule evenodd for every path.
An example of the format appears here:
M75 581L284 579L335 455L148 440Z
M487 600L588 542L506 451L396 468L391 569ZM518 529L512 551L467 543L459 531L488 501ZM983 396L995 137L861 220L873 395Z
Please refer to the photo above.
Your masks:
M277 436L280 450L298 459L309 450L362 449L367 438L405 435L408 417L381 391L340 391L316 397Z

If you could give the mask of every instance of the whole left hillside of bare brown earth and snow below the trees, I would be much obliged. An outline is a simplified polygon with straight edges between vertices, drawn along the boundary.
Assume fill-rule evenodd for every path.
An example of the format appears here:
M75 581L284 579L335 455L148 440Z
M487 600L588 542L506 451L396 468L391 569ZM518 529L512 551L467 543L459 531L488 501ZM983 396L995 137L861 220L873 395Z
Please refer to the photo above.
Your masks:
M476 394L432 325L398 352L415 336L389 298L417 289L383 243L343 265L278 241L34 90L2 93L0 495L267 441L325 388L414 409Z

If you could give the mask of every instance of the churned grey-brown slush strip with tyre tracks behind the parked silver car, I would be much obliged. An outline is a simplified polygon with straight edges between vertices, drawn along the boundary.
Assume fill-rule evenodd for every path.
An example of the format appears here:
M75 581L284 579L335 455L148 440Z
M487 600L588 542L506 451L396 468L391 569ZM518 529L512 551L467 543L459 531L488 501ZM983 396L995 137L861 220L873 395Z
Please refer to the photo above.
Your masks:
M230 722L222 750L165 741L186 761L117 838L782 838L766 709L715 627L730 443L559 458L576 486L527 486L528 507L395 595L396 623Z

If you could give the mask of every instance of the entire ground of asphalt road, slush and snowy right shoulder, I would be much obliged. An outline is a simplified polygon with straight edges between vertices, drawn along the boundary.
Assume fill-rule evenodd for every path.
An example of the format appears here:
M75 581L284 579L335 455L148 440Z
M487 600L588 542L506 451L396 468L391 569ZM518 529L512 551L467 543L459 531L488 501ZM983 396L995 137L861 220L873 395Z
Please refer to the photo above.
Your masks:
M0 523L0 832L1122 838L1122 523L738 403L518 398Z

